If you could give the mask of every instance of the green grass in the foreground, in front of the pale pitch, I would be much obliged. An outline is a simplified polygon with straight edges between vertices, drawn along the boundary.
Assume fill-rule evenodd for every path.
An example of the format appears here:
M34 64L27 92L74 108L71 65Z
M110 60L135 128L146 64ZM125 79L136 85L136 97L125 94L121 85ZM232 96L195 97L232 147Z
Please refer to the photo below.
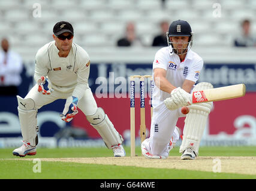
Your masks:
M179 178L256 178L255 175L213 173L203 171L118 167L113 165L79 164L73 162L41 162L41 172L33 171L32 161L1 161L0 178L29 179L179 179ZM10 173L11 172L11 173ZM189 173L189 176L187 175Z

